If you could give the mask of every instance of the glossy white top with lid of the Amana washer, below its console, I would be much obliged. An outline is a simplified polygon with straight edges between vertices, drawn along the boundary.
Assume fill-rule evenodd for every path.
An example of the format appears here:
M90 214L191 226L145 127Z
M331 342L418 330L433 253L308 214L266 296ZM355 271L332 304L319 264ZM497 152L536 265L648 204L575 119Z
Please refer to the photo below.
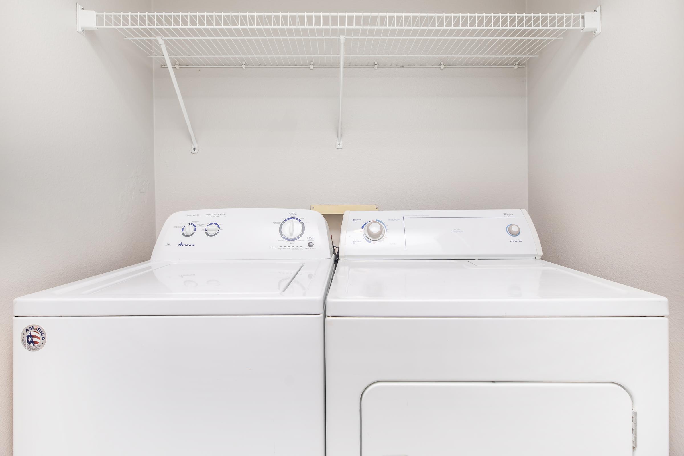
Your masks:
M321 314L333 260L147 261L19 297L14 315Z

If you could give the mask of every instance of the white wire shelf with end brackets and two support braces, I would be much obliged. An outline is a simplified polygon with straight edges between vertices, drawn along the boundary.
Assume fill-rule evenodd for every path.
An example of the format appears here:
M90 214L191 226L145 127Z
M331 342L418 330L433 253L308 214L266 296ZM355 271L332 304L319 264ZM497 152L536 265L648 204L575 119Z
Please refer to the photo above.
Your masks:
M337 68L336 148L342 148L345 68L525 68L570 30L601 33L584 13L96 12L77 4L76 28L115 29L168 68L198 152L174 70Z

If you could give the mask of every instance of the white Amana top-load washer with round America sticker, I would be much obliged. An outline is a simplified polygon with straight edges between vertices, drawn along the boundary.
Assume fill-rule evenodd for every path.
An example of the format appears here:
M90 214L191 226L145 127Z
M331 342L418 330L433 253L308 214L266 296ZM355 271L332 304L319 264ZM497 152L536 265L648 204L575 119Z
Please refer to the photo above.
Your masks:
M328 225L175 213L152 260L14 302L14 455L325 451Z

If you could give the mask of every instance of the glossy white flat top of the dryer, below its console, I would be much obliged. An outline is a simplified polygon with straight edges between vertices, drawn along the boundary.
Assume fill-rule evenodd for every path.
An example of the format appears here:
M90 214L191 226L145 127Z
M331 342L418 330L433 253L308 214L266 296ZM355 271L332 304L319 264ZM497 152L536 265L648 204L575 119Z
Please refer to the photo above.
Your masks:
M668 300L544 260L341 260L331 317L646 317Z

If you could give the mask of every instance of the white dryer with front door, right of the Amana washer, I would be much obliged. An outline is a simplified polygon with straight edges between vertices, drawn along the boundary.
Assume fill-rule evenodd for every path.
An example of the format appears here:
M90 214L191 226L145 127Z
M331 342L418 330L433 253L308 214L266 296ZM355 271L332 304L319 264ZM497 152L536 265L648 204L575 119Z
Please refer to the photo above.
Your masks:
M523 210L347 212L340 239L328 456L668 455L666 298L541 260Z

